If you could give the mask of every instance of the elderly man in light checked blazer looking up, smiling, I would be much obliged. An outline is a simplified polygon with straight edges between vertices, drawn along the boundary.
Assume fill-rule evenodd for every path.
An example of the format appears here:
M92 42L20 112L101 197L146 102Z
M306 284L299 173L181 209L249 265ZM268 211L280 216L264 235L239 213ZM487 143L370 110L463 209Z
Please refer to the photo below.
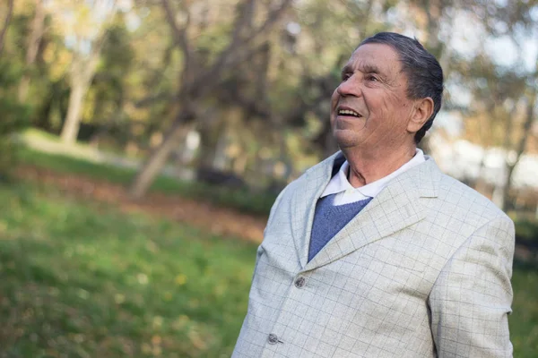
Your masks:
M443 72L395 33L343 67L341 151L288 185L257 251L234 357L506 357L511 220L416 145Z

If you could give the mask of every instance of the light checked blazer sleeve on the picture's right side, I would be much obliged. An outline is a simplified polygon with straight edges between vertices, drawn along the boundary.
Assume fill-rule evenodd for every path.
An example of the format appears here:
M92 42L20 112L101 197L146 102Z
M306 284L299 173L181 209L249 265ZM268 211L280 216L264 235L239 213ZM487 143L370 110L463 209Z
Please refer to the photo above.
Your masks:
M439 357L511 357L514 224L497 217L477 229L441 270L430 293Z

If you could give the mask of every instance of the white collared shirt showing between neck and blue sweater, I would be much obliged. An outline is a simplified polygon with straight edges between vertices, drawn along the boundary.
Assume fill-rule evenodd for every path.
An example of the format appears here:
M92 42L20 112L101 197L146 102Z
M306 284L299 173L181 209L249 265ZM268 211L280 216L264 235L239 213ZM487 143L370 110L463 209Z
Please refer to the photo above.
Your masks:
M336 194L334 196L333 205L350 204L360 200L366 200L369 198L375 198L376 195L385 189L386 185L394 179L396 176L403 174L405 171L411 169L413 166L418 166L426 160L424 153L421 149L416 149L415 155L410 161L400 166L393 173L386 175L385 177L378 179L375 182L368 183L359 188L353 188L351 183L347 179L350 164L346 160L340 167L340 170L333 176L331 181L327 184L325 191L321 194L320 198L327 195Z

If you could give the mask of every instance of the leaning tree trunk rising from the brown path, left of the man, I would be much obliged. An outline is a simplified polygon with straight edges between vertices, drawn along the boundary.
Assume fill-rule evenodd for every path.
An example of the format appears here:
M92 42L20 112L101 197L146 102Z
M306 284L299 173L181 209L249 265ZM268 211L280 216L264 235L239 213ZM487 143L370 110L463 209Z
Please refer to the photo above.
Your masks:
M142 168L134 177L134 181L129 188L129 194L134 199L140 199L148 191L155 177L161 173L166 165L169 154L178 145L178 139L183 132L183 126L187 120L186 114L180 114L169 129L161 145L153 150L150 158L144 163Z

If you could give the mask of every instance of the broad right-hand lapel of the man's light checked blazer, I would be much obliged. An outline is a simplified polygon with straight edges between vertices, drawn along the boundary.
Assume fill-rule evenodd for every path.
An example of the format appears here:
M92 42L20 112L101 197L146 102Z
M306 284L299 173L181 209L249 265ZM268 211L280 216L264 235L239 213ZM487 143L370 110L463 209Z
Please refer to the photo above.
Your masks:
M440 175L434 160L429 157L420 166L398 175L359 215L334 235L314 259L306 266L302 265L304 270L324 266L420 221L427 213L421 198L437 196ZM311 227L311 221L308 223ZM310 230L307 237L309 239ZM307 254L308 243L309 240L306 243Z

